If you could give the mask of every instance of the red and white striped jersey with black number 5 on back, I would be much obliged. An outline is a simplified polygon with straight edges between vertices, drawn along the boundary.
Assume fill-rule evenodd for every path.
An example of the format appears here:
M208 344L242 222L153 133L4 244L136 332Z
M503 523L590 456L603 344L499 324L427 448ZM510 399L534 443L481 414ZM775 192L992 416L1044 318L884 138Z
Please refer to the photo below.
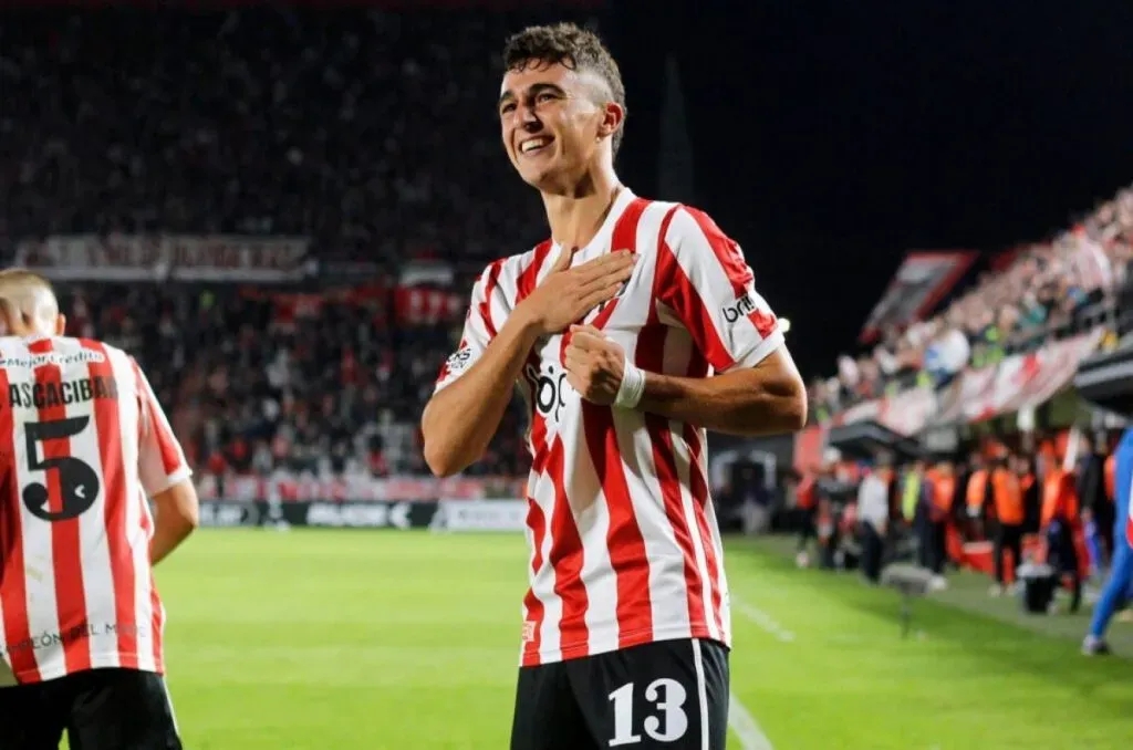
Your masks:
M147 496L189 477L137 363L88 339L0 338L0 649L22 683L164 672Z

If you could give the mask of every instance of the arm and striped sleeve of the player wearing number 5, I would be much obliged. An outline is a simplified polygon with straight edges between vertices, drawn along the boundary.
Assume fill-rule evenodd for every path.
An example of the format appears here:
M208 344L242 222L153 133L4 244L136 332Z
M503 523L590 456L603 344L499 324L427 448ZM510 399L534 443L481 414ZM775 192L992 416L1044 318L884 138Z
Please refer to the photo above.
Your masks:
M138 477L142 489L153 501L150 561L156 565L197 528L201 503L185 452L137 363L134 363L134 375L139 410Z

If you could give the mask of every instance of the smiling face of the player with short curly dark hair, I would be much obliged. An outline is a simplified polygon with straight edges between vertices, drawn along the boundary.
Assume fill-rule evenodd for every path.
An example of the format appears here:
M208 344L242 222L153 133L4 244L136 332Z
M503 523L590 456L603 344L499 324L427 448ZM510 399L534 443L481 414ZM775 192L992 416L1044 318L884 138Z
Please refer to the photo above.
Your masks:
M560 63L531 62L508 71L500 96L501 134L508 157L528 185L565 189L595 163L621 118L616 104L596 101L599 91L600 82L590 74Z

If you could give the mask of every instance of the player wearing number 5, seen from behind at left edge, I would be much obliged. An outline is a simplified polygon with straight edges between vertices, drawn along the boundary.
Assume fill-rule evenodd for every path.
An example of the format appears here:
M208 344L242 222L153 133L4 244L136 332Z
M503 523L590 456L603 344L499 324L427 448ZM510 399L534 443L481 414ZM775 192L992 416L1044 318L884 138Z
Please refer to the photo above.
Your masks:
M50 283L0 272L0 748L180 748L152 565L197 523L137 363L63 335ZM156 509L153 518L146 497Z

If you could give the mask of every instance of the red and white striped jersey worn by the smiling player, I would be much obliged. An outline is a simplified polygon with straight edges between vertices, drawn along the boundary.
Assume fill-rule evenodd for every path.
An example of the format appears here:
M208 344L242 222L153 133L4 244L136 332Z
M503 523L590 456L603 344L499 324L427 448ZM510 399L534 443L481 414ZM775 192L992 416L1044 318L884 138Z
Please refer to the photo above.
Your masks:
M739 246L704 213L623 189L572 263L622 249L639 256L633 275L582 322L620 343L638 367L707 377L752 367L783 343ZM484 353L561 252L546 241L484 271L437 391ZM565 380L568 340L540 340L519 378L533 457L521 664L676 638L730 646L704 431L583 401Z

